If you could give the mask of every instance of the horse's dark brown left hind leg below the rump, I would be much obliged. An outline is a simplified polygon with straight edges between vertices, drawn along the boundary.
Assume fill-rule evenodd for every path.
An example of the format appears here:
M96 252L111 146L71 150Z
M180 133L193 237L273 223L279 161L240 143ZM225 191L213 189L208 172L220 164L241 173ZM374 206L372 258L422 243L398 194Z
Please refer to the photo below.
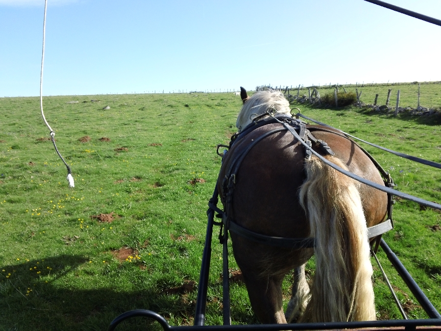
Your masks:
M282 306L284 275L259 277L255 273L247 274L244 270L242 273L251 306L259 320L263 324L286 323Z

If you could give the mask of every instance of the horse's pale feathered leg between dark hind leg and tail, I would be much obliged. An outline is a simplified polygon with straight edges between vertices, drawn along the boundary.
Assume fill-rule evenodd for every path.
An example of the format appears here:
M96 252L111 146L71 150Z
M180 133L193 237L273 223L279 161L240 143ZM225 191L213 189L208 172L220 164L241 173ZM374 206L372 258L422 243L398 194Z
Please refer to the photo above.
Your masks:
M309 285L305 277L305 264L294 269L293 293L286 308L285 318L288 323L302 316L309 301Z

